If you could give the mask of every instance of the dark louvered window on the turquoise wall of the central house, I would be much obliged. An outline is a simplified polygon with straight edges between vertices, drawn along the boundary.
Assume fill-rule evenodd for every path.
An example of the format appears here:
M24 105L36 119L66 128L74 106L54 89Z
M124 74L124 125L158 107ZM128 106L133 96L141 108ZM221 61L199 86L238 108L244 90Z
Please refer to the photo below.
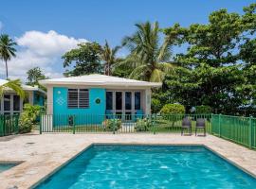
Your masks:
M69 109L89 108L89 90L88 89L68 89L67 107Z

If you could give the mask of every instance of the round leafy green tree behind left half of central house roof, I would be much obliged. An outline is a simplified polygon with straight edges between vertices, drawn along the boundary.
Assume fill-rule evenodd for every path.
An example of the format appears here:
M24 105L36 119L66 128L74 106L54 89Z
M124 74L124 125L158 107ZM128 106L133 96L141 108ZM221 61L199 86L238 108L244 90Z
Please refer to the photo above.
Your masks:
M80 43L78 48L64 54L64 68L74 64L71 71L66 71L65 76L81 76L101 73L101 45L99 43Z

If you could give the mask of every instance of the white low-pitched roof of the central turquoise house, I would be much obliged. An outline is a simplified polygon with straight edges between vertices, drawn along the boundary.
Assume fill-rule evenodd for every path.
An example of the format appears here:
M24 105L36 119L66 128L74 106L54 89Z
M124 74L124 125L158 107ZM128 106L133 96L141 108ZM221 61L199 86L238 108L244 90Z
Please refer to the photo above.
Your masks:
M88 85L88 86L112 86L112 87L160 87L162 83L147 82L122 77L110 77L105 75L86 75L80 77L62 77L40 80L42 85Z

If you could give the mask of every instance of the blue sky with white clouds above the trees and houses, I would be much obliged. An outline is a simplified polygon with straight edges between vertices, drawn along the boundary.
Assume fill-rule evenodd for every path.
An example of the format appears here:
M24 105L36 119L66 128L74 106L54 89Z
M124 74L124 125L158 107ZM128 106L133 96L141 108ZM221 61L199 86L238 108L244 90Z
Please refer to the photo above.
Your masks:
M107 40L119 45L135 24L158 21L160 27L207 24L210 12L243 13L255 0L0 0L0 34L18 43L9 61L10 78L26 80L27 70L42 68L47 77L63 77L64 52L78 43ZM118 56L124 57L121 49ZM0 78L5 64L0 60Z

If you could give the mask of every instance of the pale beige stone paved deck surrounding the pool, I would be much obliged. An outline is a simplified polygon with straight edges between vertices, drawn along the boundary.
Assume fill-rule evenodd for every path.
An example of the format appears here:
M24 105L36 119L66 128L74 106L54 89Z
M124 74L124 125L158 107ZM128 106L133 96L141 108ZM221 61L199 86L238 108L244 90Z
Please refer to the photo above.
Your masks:
M0 189L31 188L92 144L204 145L256 176L255 150L211 135L31 133L0 137L0 162L23 162L0 173Z

